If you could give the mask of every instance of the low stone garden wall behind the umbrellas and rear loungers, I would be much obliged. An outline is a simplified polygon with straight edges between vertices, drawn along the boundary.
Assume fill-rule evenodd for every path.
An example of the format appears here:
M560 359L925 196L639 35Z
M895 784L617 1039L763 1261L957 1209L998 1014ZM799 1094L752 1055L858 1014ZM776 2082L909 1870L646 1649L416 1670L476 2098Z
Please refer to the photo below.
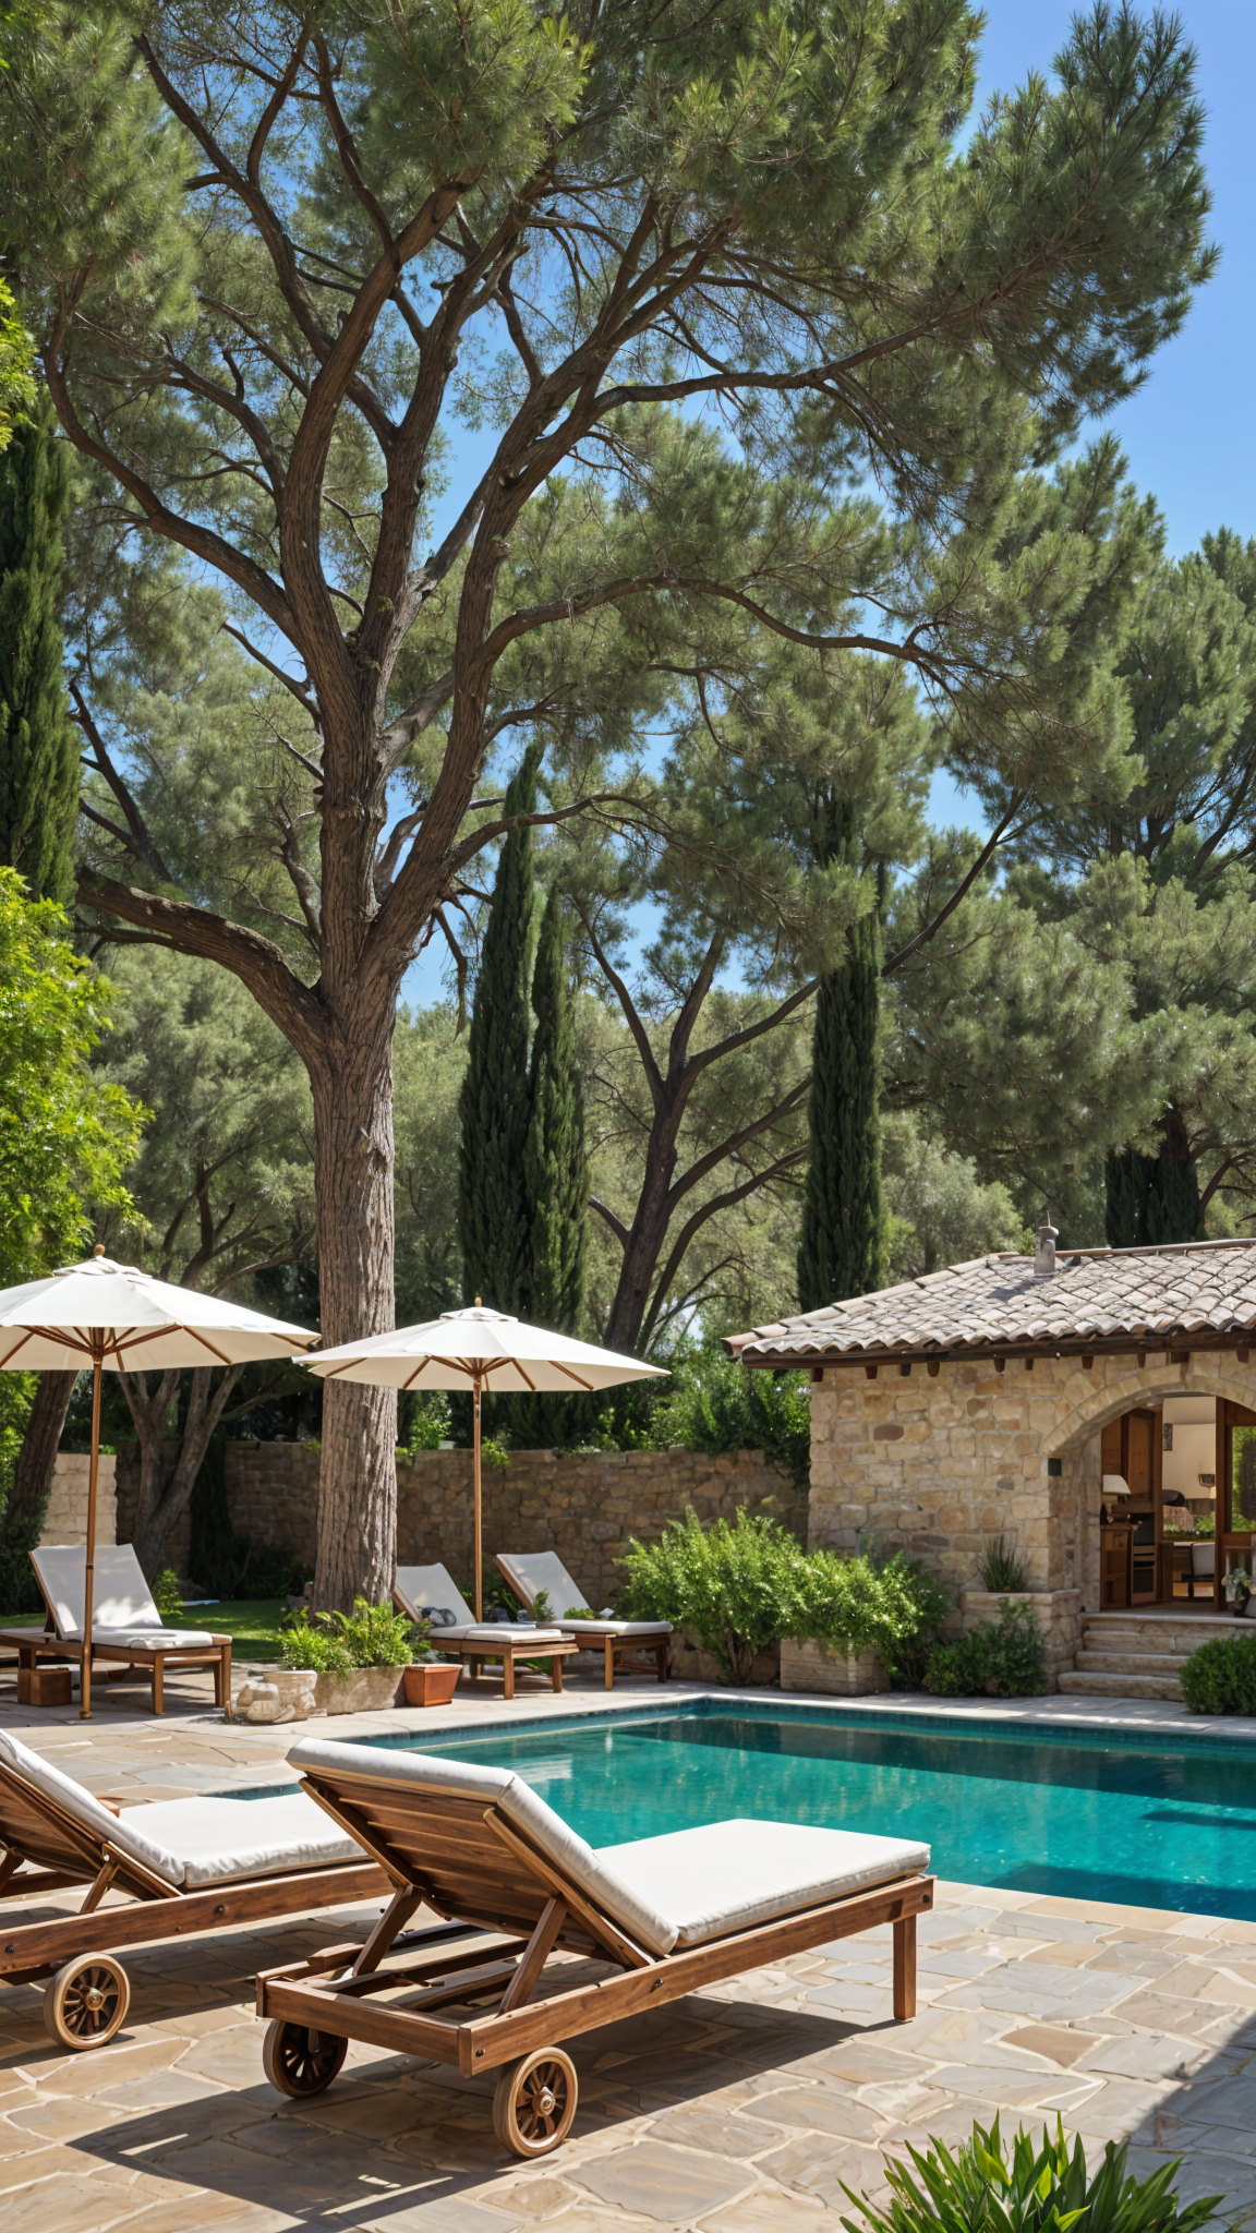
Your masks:
M118 1463L118 1523L134 1518L139 1465L132 1447ZM317 1516L315 1447L228 1443L226 1492L232 1525L253 1543L313 1561ZM597 1451L556 1458L516 1449L510 1465L483 1467L485 1559L496 1550L556 1550L592 1606L624 1581L617 1565L630 1536L655 1541L668 1518L693 1505L700 1518L776 1498L780 1518L807 1541L807 1489L796 1489L760 1449L708 1458L693 1449ZM170 1563L188 1572L188 1521L170 1541ZM472 1454L425 1449L398 1465L398 1563L447 1565L472 1579ZM565 1612L565 1606L556 1608Z

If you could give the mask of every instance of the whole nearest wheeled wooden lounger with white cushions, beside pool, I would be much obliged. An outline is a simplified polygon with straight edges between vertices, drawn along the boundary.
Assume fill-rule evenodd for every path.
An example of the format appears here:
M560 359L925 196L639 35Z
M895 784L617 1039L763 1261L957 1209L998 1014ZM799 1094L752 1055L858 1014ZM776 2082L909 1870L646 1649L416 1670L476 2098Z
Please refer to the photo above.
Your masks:
M505 1769L326 1740L288 1762L396 1887L362 1945L257 1978L266 2074L295 2099L364 2039L463 2077L498 2070L498 2139L548 2155L577 2108L561 2041L881 1923L894 2014L916 2010L923 1844L746 1820L594 1851ZM405 1934L420 1905L445 1927Z

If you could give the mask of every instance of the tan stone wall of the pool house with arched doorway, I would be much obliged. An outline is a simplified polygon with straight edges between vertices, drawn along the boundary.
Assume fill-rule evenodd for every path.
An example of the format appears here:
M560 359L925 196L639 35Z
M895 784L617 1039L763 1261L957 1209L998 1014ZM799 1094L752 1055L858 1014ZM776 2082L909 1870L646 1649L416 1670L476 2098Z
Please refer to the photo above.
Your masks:
M1100 1610L1100 1429L1164 1396L1229 1396L1256 1409L1256 1362L1234 1353L1171 1364L1135 1358L1008 1358L827 1367L811 1387L809 1541L854 1550L867 1530L919 1552L957 1592L1001 1532L1035 1592L1082 1592ZM1066 1623L1062 1606L1062 1621Z

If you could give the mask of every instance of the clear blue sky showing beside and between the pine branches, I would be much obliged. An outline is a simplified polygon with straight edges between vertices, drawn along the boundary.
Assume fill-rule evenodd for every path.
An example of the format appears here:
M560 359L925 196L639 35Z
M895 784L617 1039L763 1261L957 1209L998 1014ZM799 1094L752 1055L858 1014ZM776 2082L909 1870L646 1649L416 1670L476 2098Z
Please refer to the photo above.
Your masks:
M988 0L977 109L1030 69L1050 71L1068 38L1075 0ZM1196 297L1182 333L1153 360L1126 404L1104 424L1131 473L1164 511L1169 552L1198 549L1211 527L1256 536L1256 0L1180 0L1176 13L1198 51L1207 109L1205 165L1214 194L1216 277ZM460 447L443 511L458 509L467 469L487 462L492 438ZM438 518L436 534L445 525ZM981 826L977 804L948 775L932 788L939 824ZM431 947L407 974L411 1003L440 998L443 956Z

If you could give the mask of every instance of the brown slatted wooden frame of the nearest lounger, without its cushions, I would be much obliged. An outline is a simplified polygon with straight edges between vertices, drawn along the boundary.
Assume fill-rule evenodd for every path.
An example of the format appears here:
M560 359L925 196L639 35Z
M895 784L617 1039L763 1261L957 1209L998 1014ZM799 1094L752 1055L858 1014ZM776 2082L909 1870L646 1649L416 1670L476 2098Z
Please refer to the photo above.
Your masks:
M306 1771L304 1789L396 1887L362 1945L259 1974L257 2012L317 2041L362 2039L474 2077L883 1923L894 1929L894 2016L905 2023L916 2012L916 1916L934 1905L932 1876L905 1873L697 1947L648 1954L496 1804L317 1771ZM405 1934L420 1905L458 1918L460 1929ZM563 1990L554 1974L545 1978L556 1954L594 1956L610 1974ZM375 1999L389 1992L398 1999ZM480 2010L483 2001L496 2005Z

